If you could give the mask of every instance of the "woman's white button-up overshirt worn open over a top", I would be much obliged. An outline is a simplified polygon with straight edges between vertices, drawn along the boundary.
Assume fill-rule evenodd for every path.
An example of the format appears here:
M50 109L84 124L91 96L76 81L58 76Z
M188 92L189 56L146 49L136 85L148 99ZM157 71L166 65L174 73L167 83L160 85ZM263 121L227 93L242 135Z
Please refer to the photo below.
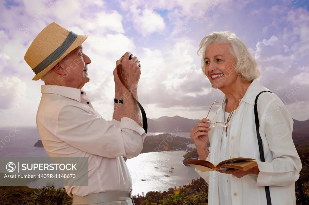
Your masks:
M292 140L293 119L277 95L269 92L260 94L257 111L260 135L264 147L265 162L260 161L257 142L254 101L262 90L268 90L257 80L249 86L241 99L238 112L230 121L229 158L247 157L256 159L260 173L246 175L240 179L229 175L232 205L266 205L265 187L269 186L272 204L296 205L295 181L302 169L302 163ZM226 98L223 100L223 104ZM223 105L222 104L222 105ZM222 106L213 122L224 120ZM209 132L210 151L207 161L220 162L220 145L223 127L212 127ZM208 203L219 205L219 172L197 173L208 183ZM295 177L296 176L296 177Z

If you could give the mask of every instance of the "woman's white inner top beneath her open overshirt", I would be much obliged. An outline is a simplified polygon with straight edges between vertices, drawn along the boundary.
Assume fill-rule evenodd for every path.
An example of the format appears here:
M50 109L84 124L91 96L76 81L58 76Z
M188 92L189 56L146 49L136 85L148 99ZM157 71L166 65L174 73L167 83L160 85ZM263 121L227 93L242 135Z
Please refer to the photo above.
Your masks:
M228 112L224 112L224 122L227 121L227 117L230 115ZM235 114L235 111L233 115ZM230 123L232 122L233 115L231 116ZM229 132L230 129L227 127L227 134L225 129L222 129L222 141L221 141L221 148L220 148L220 162L229 159ZM219 202L220 205L231 205L231 181L229 181L230 176L227 174L219 173Z

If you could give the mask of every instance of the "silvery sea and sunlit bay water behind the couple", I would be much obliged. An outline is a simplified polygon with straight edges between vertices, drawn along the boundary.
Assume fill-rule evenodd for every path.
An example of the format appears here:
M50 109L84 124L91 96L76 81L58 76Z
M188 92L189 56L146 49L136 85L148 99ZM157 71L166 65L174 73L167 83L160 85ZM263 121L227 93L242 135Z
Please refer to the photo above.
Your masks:
M147 135L158 134L163 133L147 133ZM177 136L190 138L190 133L177 133ZM0 157L49 157L43 147L33 147L39 139L37 130L33 128L0 129L0 145L2 146ZM187 146L194 147L193 144ZM195 169L184 166L182 163L185 153L185 151L150 152L128 159L126 164L133 182L133 195L146 195L148 191L167 191L171 187L179 187L197 179L199 175ZM4 166L1 166L0 172L9 173ZM142 179L146 180L142 181ZM41 187L44 185L42 183L44 182L34 181L29 183L28 187Z

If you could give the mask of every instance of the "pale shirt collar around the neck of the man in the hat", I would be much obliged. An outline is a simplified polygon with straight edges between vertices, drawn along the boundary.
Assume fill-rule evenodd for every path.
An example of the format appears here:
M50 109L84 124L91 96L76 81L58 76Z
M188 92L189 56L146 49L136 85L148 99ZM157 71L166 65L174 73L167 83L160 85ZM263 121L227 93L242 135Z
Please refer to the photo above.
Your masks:
M81 89L66 86L42 85L41 88L41 93L61 95L67 98L77 100L78 102L81 102L81 92L86 94L86 92Z

